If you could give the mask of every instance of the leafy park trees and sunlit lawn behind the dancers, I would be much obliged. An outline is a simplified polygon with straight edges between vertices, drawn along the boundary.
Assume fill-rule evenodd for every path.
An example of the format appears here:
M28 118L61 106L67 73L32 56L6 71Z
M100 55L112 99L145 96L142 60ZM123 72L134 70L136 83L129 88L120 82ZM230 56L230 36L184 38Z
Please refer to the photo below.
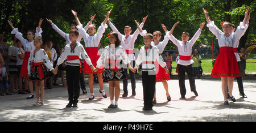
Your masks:
M80 22L83 25L89 22L92 15L96 14L93 23L95 23L98 28L104 21L106 12L113 9L110 14L110 19L121 33L123 33L125 25L130 25L134 32L137 28L134 19L141 23L144 16L148 15L143 29L146 29L147 32L150 33L161 31L163 33L161 40L163 40L165 35L161 24L166 25L167 29L170 30L172 25L180 21L174 31L174 36L181 40L182 32L187 31L190 34L190 37L192 37L199 28L199 24L204 21L206 22L202 11L203 7L209 12L211 19L214 20L214 23L221 30L221 23L224 21L231 22L237 27L244 18L246 8L250 7L251 19L249 28L241 38L238 50L240 50L241 47L247 49L246 52L249 57L246 60L246 74L256 74L256 49L254 49L256 47L256 25L254 23L256 19L256 1L253 0L2 0L0 6L0 33L5 35L5 41L9 45L13 44L11 41L13 35L10 34L11 28L7 23L7 20L13 22L14 27L19 28L19 31L23 33L23 37L26 37L27 30L35 29L38 26L39 19L44 18L42 24L43 40L52 41L53 44L60 44L62 46L64 38L51 27L51 24L46 21L46 18L51 19L57 27L68 33L69 25L71 23L76 24L71 10L77 11ZM110 32L112 32L111 28L107 28L104 36L101 38L101 45L104 47L109 45L108 33ZM81 44L84 44L84 42L81 41ZM135 49L139 49L142 45L143 38L138 36L135 41ZM209 74L212 70L212 59L216 59L219 47L217 38L208 30L206 24L199 40L197 40L193 46L193 49L199 50L203 60L202 67L204 73ZM178 54L176 46L169 41L165 51L172 54L172 66L176 67L175 59ZM175 74L175 70L172 70L172 72Z

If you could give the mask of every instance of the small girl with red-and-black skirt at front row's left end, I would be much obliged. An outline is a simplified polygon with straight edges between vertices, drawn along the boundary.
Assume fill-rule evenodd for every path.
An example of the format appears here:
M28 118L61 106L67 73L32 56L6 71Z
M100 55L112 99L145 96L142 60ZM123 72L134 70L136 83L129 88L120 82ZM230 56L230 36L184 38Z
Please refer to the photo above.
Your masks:
M43 40L41 37L36 37L34 40L35 50L30 53L28 59L27 71L30 76L29 80L35 83L36 91L36 104L33 106L42 106L44 100L44 80L49 78L47 68L55 73L51 61L48 59L48 55L44 49L41 49Z

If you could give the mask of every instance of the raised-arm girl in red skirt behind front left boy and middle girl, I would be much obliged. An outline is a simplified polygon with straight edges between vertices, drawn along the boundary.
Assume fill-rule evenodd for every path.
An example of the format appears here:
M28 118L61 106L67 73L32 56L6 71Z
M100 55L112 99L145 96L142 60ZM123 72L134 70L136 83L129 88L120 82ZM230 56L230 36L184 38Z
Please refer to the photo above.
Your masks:
M110 12L112 10L107 12L106 18L104 22L101 24L101 26L98 28L98 32L96 32L96 25L90 24L92 20L87 24L89 25L87 28L87 25L85 28L82 27L82 24L80 23L79 19L77 18L77 12L72 10L73 15L75 16L76 22L77 22L77 28L79 29L79 32L82 33L84 37L85 42L85 49L86 53L88 54L89 58L92 61L93 66L97 65L98 58L100 58L100 53L98 52L98 45L100 44L101 37L103 36L103 33L105 32L105 29L108 28L108 25L106 25L106 22L109 18ZM93 17L94 18L94 17ZM86 33L88 29L88 33ZM89 75L89 88L90 88L90 97L89 100L94 99L94 93L93 93L93 74L97 74L98 76L98 83L100 84L100 93L104 98L106 98L106 93L104 92L103 88L103 79L102 79L102 73L104 72L104 68L98 69L98 71L93 72L92 69L89 67L87 63L84 63L84 74Z

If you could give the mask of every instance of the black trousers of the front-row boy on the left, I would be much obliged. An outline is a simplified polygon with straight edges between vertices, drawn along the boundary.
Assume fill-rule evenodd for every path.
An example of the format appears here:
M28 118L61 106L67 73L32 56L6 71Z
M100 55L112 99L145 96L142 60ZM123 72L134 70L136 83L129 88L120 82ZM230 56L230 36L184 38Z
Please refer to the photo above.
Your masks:
M66 66L67 82L68 82L68 100L71 103L77 103L80 95L80 67Z

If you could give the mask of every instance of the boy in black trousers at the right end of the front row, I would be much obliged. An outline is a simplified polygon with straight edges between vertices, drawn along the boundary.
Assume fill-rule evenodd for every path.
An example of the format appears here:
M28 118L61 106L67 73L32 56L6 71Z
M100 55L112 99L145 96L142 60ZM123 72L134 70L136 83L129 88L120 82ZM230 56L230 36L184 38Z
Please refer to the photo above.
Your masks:
M131 71L135 72L135 69L142 63L142 86L143 86L143 110L152 110L152 100L155 93L155 61L158 61L160 66L166 69L168 74L168 68L163 58L160 56L159 50L156 46L151 44L153 41L153 35L146 33L143 36L144 46L139 50L138 58L135 61L135 67L131 68Z

